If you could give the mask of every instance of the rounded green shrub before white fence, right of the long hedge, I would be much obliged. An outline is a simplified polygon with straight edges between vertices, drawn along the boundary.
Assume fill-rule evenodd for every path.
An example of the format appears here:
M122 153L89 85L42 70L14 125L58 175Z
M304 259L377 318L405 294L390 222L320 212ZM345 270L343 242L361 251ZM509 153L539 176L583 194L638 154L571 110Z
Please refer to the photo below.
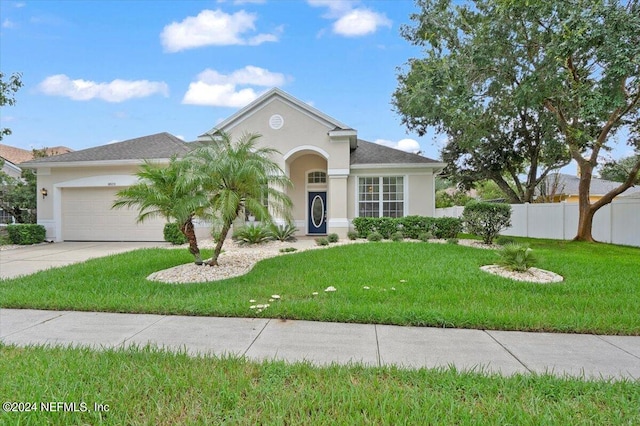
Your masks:
M491 244L500 231L511 226L511 206L473 201L464 207L462 220L469 233L480 236L485 244Z

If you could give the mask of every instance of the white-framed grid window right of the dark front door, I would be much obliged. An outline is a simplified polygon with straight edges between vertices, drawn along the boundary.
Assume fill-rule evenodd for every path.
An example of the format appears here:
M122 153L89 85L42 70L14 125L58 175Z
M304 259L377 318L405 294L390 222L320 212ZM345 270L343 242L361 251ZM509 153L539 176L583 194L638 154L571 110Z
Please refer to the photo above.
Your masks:
M404 178L402 176L359 178L358 216L404 216Z

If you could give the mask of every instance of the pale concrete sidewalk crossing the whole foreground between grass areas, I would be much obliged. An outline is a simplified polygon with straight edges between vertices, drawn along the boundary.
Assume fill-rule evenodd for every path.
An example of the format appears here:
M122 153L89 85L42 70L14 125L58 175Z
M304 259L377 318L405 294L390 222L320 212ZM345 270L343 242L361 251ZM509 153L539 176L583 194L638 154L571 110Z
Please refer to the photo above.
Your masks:
M534 372L640 379L640 337L636 336L0 309L0 341L96 349L150 343L191 354L306 360L317 365L455 366L503 375Z

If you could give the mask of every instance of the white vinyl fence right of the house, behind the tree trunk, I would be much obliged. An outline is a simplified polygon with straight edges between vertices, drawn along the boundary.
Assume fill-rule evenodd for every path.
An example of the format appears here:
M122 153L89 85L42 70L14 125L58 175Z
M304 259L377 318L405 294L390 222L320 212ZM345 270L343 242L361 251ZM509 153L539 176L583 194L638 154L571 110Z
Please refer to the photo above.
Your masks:
M502 235L571 240L578 230L578 203L512 204L511 227ZM464 207L436 209L436 217L460 217ZM597 241L640 247L640 199L622 198L593 218Z

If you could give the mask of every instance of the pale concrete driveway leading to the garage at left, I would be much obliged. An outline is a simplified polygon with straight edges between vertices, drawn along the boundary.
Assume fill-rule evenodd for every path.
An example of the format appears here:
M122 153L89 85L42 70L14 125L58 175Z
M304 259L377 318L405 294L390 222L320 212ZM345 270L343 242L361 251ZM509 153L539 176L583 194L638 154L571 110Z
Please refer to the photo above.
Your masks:
M0 251L0 279L29 275L87 259L145 247L168 247L163 242L61 242Z

